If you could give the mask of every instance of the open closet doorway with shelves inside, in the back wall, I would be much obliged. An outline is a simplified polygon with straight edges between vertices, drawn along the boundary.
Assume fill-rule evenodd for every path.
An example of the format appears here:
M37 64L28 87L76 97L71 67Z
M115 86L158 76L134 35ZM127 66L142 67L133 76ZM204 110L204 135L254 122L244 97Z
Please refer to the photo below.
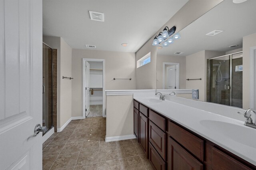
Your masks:
M83 58L83 118L106 117L104 59Z

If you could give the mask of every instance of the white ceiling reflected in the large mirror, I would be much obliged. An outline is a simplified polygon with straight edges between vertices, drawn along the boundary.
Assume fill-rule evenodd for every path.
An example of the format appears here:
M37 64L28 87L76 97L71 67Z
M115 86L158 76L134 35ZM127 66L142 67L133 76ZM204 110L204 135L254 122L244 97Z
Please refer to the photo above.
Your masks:
M256 0L234 4L224 0L180 31L181 39L158 49L158 55L187 56L202 50L231 51L242 48L242 38L256 33ZM206 36L213 30L224 32ZM237 47L228 47L238 45ZM182 52L177 55L175 52Z

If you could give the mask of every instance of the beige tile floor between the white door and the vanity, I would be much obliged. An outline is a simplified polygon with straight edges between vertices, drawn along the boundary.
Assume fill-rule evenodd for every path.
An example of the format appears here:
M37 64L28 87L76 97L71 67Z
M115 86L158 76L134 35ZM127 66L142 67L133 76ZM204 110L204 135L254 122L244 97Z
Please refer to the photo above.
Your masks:
M136 139L105 142L106 118L71 121L43 143L43 170L151 170Z

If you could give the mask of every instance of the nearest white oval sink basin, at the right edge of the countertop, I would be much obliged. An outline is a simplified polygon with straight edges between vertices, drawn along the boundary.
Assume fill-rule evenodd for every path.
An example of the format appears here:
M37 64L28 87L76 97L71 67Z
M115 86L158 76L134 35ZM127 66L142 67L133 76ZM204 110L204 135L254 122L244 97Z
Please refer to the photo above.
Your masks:
M203 120L200 124L205 128L222 134L235 142L256 148L256 129L246 127L243 124L233 124L222 121ZM220 139L221 140L221 139Z

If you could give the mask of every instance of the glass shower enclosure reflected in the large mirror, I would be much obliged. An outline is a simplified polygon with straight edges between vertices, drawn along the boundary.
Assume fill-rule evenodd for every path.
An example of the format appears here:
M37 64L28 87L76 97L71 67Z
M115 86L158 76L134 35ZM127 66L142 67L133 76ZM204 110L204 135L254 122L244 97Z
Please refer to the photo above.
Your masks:
M207 101L242 108L242 52L209 60Z

